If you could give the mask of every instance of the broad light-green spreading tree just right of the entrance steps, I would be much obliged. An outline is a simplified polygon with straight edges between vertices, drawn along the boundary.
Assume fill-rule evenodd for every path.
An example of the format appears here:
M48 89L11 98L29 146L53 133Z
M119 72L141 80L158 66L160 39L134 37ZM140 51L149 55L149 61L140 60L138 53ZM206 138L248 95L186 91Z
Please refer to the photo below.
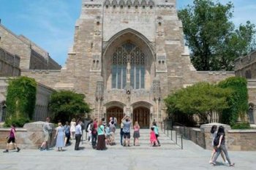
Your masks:
M170 114L179 111L198 115L201 123L208 123L208 116L212 117L214 112L222 112L229 107L227 96L230 93L229 89L222 89L208 82L198 82L169 95L165 98L165 104Z

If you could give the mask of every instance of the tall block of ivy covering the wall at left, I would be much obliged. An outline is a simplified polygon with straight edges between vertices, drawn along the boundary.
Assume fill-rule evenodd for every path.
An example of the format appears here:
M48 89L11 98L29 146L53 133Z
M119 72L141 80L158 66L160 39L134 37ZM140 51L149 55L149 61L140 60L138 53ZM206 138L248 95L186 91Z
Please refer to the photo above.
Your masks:
M36 104L37 82L33 78L18 77L9 81L7 87L7 119L5 126L12 123L22 127L32 119Z

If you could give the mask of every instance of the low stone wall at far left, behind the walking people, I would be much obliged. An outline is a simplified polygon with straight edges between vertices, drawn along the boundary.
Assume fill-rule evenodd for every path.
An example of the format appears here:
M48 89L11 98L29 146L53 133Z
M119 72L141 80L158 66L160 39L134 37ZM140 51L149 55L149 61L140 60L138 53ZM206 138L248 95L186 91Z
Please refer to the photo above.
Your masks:
M16 129L16 143L21 149L38 149L43 142L43 122L27 123L23 128ZM53 133L50 134L48 141L49 147L54 147L56 134L53 123L50 123L53 128ZM0 128L0 149L6 149L7 139L10 134L10 128ZM10 149L13 148L11 144Z

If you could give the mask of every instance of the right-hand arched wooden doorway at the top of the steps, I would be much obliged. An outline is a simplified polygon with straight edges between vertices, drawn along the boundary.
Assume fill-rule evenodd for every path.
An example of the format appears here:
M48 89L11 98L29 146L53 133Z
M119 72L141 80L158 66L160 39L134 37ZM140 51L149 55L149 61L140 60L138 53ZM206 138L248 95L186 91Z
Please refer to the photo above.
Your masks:
M149 128L149 112L150 110L146 107L137 107L133 110L133 124L138 121L140 128Z

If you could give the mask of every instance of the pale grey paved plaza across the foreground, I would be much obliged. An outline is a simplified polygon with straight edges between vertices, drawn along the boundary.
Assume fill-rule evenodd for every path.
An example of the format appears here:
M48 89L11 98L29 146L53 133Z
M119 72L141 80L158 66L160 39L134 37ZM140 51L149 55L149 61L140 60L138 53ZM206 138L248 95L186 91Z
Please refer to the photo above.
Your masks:
M88 143L83 143L80 144L82 150L75 151L73 144L64 147L64 152L57 152L55 148L47 151L0 152L0 169L256 169L256 152L230 151L230 159L236 163L235 167L223 164L221 158L218 158L217 166L211 166L208 164L211 151L203 150L187 140L184 140L184 150L132 150L132 147L124 147L121 150L110 148L98 151L92 150Z

